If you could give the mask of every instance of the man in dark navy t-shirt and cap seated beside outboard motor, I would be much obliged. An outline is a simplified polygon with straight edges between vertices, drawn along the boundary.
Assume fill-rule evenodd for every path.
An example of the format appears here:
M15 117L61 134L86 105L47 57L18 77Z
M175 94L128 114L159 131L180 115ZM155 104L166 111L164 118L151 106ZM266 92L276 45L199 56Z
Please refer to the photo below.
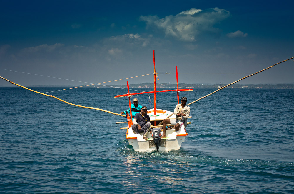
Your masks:
M136 98L135 98L136 99ZM134 100L135 100L134 99ZM146 133L151 128L150 117L147 115L147 107L143 106L141 112L135 115L133 119L132 130L136 134L144 133L143 138L147 140Z

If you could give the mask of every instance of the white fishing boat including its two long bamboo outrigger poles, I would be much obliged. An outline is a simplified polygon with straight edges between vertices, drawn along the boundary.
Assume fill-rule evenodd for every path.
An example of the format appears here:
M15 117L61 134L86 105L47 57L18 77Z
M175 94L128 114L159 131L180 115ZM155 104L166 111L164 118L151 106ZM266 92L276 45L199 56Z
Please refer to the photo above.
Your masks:
M290 59L293 59L294 57L290 58ZM281 61L279 63L276 63L266 69L263 69L259 72L256 72L254 74L251 74L251 75L248 75L246 77L243 77L242 79L239 79L237 81L234 81L233 83L231 84L228 84L226 86L223 86L219 89L217 89L216 91L206 95L206 96L203 96L187 105L191 105L203 98L206 98L207 96L210 96L212 95L213 93L216 93L217 91L223 89L223 88L226 88L232 84L235 84L237 83L238 81L241 81L247 77L250 77L250 76L253 76L255 74L258 74L260 72L263 72L277 64L280 64L280 63L283 63L285 61L288 61L290 59L286 59L284 61ZM179 86L178 86L178 67L176 66L176 78L177 78L177 89L176 90L163 90L163 91L156 91L156 71L155 71L155 59L154 59L154 50L153 50L153 63L154 63L154 91L150 91L150 92L141 92L141 93L130 93L130 90L129 90L129 85L128 85L128 81L127 81L127 87L128 87L128 93L127 94L123 94L123 95L118 95L118 96L114 96L115 98L118 98L118 97L123 97L123 96L128 96L128 100L129 100L129 107L130 107L130 110L131 110L131 96L132 95L137 95L137 94L145 94L145 93L154 93L154 110L153 109L150 109L148 110L147 114L152 118L150 121L151 122L154 122L154 125L151 125L151 133L152 135L150 135L150 133L147 133L147 137L148 139L145 140L143 139L143 134L134 134L133 133L133 130L131 128L131 125L133 124L133 121L132 119L132 111L130 112L130 114L127 114L127 118L128 118L128 127L126 127L127 129L127 132L126 132L126 139L128 140L129 144L133 146L134 150L135 151L140 151L140 152L143 152L143 151L153 151L153 150L157 150L157 151L170 151L170 150L178 150L180 149L181 147L181 144L182 142L185 141L185 137L188 135L186 129L184 128L184 126L181 126L180 129L176 132L174 129L167 129L166 130L166 138L163 138L161 139L161 129L159 127L162 127L161 123L164 119L166 118L175 118L175 115L173 112L170 112L170 111L167 111L167 110L162 110L162 109L157 109L156 110L156 93L157 92L169 92L169 91L176 91L177 92L177 96L178 96L178 104L179 104L179 91L193 91L193 89L179 89ZM57 98L55 96L52 96L52 95L48 95L48 94L45 94L45 93L41 93L41 92L38 92L38 91L34 91L34 90L31 90L29 88L26 88L24 86L21 86L19 84L16 84L8 79L5 79L4 77L1 77L1 79L4 79L6 81L9 81L11 84L14 84L14 85L17 85L17 86L20 86L24 89L27 89L27 90L30 90L30 91L33 91L33 92L36 92L36 93L39 93L39 94L42 94L44 96L48 96L48 97L52 97L52 98L56 98L57 100L60 100L64 103L67 103L69 105L73 105L73 106L77 106L77 107L81 107L81 108L89 108L89 109L94 109L94 110L100 110L100 111L103 111L103 112L107 112L107 113L111 113L111 114L114 114L114 115L119 115L119 116L123 116L121 114L118 114L118 113L114 113L114 112L111 112L111 111L107 111L107 110L103 110L103 109L100 109L100 108L94 108L94 107L87 107L87 106L81 106L81 105L76 105L76 104L73 104L73 103L69 103L69 102L66 102L60 98ZM92 84L94 85L94 84ZM70 88L72 89L72 88ZM63 90L66 90L66 89L63 89ZM170 115L169 115L170 114ZM169 116L167 116L169 115ZM166 117L167 116L167 117ZM191 118L191 117L189 117ZM122 123L122 122L117 122L117 123ZM187 124L190 124L191 122L188 122ZM167 125L167 126L173 126L173 125ZM124 129L124 128L121 128L121 129ZM152 141L153 140L153 141Z

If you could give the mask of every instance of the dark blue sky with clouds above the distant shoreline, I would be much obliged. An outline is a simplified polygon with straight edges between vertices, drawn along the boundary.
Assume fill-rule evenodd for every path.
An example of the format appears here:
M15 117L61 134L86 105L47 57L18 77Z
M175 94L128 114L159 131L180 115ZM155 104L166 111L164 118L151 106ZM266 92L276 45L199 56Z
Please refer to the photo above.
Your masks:
M293 1L0 4L0 76L24 86L87 85L152 74L153 50L156 72L173 73L158 74L157 83L171 84L176 66L179 83L229 84L294 57ZM239 83L293 83L293 74L290 59ZM154 76L106 84L126 81L153 82ZM0 79L0 86L13 85Z

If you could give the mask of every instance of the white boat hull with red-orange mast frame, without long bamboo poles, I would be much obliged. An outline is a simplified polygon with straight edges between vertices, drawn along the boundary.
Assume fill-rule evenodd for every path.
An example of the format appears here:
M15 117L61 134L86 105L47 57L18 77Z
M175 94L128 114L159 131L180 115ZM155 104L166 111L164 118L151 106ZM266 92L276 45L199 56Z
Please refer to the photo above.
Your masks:
M130 114L127 114L128 118L128 127L121 128L127 129L126 132L126 139L128 140L129 144L133 146L135 151L144 152L144 151L171 151L171 150L178 150L181 147L182 142L185 141L185 137L188 135L185 127L182 125L178 131L175 129L167 129L166 130L166 138L161 139L162 136L162 127L161 123L166 118L176 118L173 112L168 110L156 109L156 93L157 92L169 92L169 91L176 91L178 97L178 104L179 104L179 91L193 91L193 89L179 89L178 86L178 67L176 66L176 79L177 79L177 89L176 90L163 90L163 91L156 91L156 72L155 72L155 58L154 58L154 50L153 50L153 65L154 65L154 91L150 92L140 92L140 93L130 93L129 84L127 81L128 93L123 95L114 96L114 98L128 96L129 106L131 110L131 96L137 94L145 94L145 93L154 93L154 109L147 110L147 114L150 117L151 128L152 128L152 135L148 132L146 137L148 140L143 139L143 133L135 134L131 128L133 124L132 119L132 111ZM191 118L191 117L189 117ZM154 125L152 125L154 122ZM188 122L187 124L190 124ZM169 127L174 125L167 125Z

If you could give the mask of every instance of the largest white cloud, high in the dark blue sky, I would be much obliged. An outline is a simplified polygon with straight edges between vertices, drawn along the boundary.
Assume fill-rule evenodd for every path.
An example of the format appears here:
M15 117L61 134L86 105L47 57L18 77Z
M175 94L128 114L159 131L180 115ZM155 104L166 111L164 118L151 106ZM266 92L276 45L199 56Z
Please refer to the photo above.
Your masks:
M203 32L217 32L213 25L228 18L230 12L224 9L212 8L201 10L192 8L182 11L176 16L140 16L148 27L157 27L164 31L166 36L176 37L179 40L193 42Z

